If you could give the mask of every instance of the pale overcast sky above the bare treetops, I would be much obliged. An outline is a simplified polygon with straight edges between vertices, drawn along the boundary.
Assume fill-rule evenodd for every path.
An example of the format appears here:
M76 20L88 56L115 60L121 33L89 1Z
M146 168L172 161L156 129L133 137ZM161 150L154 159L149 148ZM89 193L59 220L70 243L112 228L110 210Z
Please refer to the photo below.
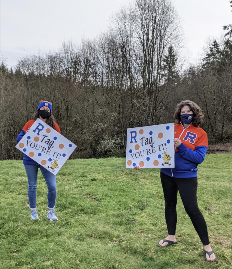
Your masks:
M113 12L132 0L0 0L0 55L8 67L29 54L56 51L62 42L80 43L107 29ZM229 0L172 0L192 63L208 40L221 38L232 24ZM2 58L1 58L2 61Z

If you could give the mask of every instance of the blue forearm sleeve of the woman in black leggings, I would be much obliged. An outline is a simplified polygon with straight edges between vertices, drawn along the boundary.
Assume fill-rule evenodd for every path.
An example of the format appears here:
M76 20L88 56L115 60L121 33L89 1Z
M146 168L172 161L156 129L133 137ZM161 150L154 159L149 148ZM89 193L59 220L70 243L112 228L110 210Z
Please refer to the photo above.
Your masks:
M177 148L179 154L189 160L190 162L194 162L196 164L200 164L203 162L205 158L205 154L207 152L206 146L197 146L194 150L187 148L183 143Z

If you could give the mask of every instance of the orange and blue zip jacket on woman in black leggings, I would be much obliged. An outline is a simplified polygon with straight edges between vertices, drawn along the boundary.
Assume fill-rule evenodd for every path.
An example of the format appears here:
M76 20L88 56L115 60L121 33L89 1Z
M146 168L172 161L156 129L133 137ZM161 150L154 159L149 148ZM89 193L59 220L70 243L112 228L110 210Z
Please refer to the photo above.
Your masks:
M174 178L193 178L197 176L197 166L203 162L208 147L207 133L192 124L184 128L175 124L174 137L181 140L175 148L175 168L161 168L165 175Z

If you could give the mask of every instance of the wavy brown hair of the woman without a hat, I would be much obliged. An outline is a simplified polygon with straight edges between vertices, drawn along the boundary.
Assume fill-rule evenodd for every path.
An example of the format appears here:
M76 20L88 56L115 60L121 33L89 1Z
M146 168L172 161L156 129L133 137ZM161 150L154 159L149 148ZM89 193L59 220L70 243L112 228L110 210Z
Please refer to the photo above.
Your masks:
M197 104L189 100L181 101L179 104L177 104L176 111L173 115L175 119L175 124L179 124L181 122L180 111L184 106L188 106L189 109L193 112L192 125L194 125L195 127L199 126L203 122L204 114Z

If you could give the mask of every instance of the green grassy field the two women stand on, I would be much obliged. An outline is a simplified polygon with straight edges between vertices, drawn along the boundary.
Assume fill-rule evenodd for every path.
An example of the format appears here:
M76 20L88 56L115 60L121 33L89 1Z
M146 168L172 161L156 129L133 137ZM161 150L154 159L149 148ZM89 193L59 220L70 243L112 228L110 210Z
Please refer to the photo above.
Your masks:
M39 172L31 221L22 161L0 162L0 268L232 268L232 153L206 155L198 171L198 206L216 262L203 246L178 194L178 244L166 237L159 169L125 169L124 158L69 160L57 174L56 216L47 216Z

